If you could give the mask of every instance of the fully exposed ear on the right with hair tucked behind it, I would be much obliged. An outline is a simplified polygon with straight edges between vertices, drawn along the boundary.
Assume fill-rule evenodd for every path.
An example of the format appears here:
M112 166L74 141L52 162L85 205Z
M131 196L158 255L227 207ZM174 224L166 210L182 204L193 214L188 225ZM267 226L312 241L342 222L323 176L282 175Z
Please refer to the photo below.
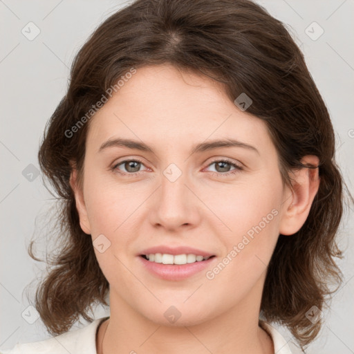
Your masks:
M317 156L308 155L301 159L304 165L319 165ZM316 169L302 167L292 171L292 191L290 198L286 197L283 205L283 215L279 225L279 233L292 235L299 231L304 225L310 212L313 199L319 188L318 167Z

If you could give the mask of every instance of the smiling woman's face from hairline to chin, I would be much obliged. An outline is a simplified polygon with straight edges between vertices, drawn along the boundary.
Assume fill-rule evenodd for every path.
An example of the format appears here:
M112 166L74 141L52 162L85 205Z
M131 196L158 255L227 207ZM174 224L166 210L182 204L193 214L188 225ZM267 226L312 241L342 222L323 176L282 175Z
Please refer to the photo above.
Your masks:
M187 325L232 309L259 313L290 196L265 123L220 84L164 65L139 68L90 124L78 209L110 283L111 314L129 306L156 323L180 316ZM136 146L107 144L118 139ZM141 257L160 246L214 257L187 265Z

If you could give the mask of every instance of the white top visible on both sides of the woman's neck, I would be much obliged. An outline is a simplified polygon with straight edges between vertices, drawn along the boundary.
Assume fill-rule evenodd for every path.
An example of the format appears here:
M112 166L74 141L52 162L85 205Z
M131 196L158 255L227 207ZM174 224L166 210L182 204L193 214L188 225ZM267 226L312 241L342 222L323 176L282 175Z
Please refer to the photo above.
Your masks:
M108 318L95 319L83 328L71 330L40 342L16 344L14 348L6 351L0 349L0 354L97 354L96 331L98 326ZM273 326L263 321L261 321L261 326L273 339L274 353L298 353L290 350L286 339Z

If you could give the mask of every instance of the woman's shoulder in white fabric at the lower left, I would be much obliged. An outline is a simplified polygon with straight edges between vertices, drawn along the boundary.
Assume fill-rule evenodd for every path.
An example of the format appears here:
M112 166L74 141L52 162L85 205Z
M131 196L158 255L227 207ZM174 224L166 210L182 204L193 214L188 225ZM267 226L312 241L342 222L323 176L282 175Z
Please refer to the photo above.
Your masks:
M83 328L71 330L40 342L16 344L10 350L0 349L0 354L96 354L96 330L108 317L95 319Z

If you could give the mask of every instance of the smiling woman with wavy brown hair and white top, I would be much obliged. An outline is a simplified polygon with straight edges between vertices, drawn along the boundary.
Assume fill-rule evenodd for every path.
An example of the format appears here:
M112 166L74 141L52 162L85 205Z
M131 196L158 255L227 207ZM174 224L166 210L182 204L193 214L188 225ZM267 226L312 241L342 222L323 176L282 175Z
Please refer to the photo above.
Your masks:
M340 282L334 154L304 57L261 6L138 0L111 15L39 150L63 247L35 307L57 337L8 353L304 351ZM107 296L110 317L68 332Z

